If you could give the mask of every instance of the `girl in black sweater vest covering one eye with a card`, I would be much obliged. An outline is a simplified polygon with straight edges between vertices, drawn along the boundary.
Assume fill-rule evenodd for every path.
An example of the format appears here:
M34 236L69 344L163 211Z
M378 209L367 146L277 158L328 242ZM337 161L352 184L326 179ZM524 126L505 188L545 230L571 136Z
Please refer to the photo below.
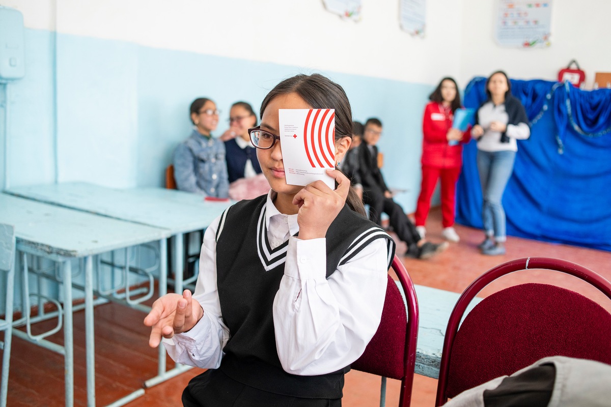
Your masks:
M229 207L206 230L194 295L167 294L144 323L149 344L208 368L185 406L340 406L343 375L376 332L394 243L368 221L350 181L287 184L279 109L335 109L335 163L353 132L340 85L298 75L263 100L250 129L271 190Z

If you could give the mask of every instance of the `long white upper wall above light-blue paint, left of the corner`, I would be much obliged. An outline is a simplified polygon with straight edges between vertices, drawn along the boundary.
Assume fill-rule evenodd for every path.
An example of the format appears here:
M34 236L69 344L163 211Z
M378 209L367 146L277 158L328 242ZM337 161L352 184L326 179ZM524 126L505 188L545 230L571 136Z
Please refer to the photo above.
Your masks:
M430 0L426 38L399 27L397 0L342 20L321 0L8 0L26 27L281 65L430 83L458 74L463 0ZM436 52L438 50L442 52Z

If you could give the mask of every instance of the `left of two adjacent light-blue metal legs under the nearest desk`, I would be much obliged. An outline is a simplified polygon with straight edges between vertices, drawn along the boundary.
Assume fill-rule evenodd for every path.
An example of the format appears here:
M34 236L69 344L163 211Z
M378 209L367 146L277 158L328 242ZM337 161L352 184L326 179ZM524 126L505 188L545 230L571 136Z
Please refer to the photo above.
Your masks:
M62 264L64 274L64 387L66 406L74 405L74 346L72 326L72 268L70 261Z

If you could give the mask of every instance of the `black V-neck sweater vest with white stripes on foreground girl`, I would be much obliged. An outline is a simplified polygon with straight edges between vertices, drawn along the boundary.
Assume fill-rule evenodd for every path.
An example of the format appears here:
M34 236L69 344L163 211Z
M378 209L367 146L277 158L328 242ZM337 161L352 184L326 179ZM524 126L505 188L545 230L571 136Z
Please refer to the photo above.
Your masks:
M284 275L288 241L272 249L265 226L267 195L229 207L216 234L219 300L230 339L221 370L233 380L276 394L342 397L349 366L320 376L291 375L276 351L273 302ZM327 231L327 278L375 239L387 239L389 265L394 242L378 225L345 206Z

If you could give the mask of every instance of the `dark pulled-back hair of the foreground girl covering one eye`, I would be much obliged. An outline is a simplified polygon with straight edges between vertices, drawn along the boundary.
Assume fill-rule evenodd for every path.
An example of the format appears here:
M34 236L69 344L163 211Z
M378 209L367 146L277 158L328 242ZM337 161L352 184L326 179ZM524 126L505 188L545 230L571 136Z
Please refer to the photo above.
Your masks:
M342 139L342 137L352 139L354 131L352 110L346 92L340 85L318 73L298 74L277 84L263 99L260 117L263 118L263 112L272 99L276 96L288 95L288 93L296 93L313 109L335 109L335 140ZM352 187L348 192L346 203L354 212L366 216L363 202Z

